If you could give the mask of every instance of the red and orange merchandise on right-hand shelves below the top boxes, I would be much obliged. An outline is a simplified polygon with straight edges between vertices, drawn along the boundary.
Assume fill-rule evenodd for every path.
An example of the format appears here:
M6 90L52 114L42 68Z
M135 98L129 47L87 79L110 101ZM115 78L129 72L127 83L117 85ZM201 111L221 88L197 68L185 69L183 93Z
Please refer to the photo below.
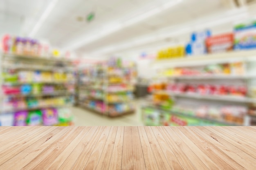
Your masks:
M249 62L249 63L248 63ZM173 66L149 89L145 125L252 125L255 61ZM232 81L230 81L232 80Z

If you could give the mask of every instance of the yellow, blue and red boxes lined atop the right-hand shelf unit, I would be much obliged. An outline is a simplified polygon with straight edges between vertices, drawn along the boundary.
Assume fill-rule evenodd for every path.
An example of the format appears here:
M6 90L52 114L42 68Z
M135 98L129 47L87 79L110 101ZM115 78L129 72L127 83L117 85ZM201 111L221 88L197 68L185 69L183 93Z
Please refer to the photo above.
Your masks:
M255 48L256 21L251 20L235 25L234 32L231 33L211 35L209 30L194 32L186 46L176 46L158 51L157 60Z

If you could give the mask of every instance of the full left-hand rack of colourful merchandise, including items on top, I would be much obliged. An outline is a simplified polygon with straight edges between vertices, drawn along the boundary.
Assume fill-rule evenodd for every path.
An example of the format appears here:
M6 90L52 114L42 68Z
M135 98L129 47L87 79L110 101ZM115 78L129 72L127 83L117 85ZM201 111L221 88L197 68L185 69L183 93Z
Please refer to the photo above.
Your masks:
M2 44L1 126L72 125L72 62L40 41L6 35Z

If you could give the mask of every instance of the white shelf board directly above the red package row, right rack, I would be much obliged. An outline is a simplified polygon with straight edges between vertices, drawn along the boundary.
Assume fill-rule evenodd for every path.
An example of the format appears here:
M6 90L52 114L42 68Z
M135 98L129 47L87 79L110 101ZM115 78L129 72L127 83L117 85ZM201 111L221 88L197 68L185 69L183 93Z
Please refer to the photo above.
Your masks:
M256 75L181 75L166 76L171 79L251 79Z

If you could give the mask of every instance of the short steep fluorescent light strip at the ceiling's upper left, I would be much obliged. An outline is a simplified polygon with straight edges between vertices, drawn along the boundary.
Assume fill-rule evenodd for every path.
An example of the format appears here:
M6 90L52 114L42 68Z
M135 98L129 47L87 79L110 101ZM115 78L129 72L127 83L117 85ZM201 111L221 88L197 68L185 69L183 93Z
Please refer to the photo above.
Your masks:
M33 30L31 31L31 33L29 34L29 37L34 37L34 35L36 34L36 32L39 30L40 26L43 24L43 22L45 21L45 19L49 16L49 14L51 13L52 9L54 8L55 4L57 3L58 0L52 0L50 2L50 4L47 6L47 8L45 9L43 15L40 17L40 19L38 20L38 22L36 23L36 25L34 26Z

